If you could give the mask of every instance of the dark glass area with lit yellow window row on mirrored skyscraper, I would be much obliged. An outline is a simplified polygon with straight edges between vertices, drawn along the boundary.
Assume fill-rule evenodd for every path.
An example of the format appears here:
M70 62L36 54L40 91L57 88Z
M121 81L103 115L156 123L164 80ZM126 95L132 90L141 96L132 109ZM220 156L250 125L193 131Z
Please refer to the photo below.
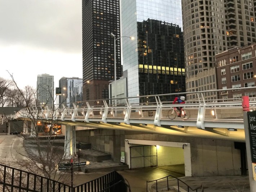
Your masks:
M185 92L181 28L147 19L137 22L137 31L140 95Z

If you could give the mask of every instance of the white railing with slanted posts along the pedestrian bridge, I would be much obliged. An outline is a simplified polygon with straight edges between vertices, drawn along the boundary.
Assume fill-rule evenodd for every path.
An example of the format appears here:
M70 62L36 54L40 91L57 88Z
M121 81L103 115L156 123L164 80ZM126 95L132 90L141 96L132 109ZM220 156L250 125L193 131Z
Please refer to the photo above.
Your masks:
M255 91L256 88L239 88ZM229 89L228 89L229 90ZM230 89L237 90L237 89ZM226 91L226 90L225 90ZM130 98L119 98L115 106L114 99L95 100L76 103L62 103L54 106L39 106L24 108L16 113L15 119L41 119L45 121L71 122L102 122L102 123L133 123L162 125L190 125L205 129L206 126L220 128L236 126L243 129L242 99L225 98L205 99L204 95L223 93L224 90L180 93L180 95L195 94L195 99L189 99L185 104L172 104L176 94L147 95ZM232 91L229 91L232 92ZM207 93L207 94L205 94ZM209 94L208 94L209 93ZM220 98L221 97L221 98ZM169 110L183 107L188 118L169 118ZM256 108L255 97L250 98L250 109ZM211 125L210 125L211 124ZM87 125L88 126L88 125Z

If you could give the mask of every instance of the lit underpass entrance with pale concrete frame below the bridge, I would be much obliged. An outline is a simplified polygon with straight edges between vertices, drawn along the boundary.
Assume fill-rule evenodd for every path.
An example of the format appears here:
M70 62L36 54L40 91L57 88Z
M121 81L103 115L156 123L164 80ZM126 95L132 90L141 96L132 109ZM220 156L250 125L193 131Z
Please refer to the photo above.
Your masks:
M130 169L174 167L187 177L192 175L190 143L125 139L125 162Z

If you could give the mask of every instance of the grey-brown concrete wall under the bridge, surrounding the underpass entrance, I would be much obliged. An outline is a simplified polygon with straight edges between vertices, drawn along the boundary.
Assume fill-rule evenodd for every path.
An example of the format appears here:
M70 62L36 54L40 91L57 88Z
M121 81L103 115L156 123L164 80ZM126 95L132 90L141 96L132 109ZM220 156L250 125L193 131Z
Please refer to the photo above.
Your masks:
M120 152L125 151L125 139L190 143L192 176L241 174L240 150L232 141L107 129L77 131L76 139L111 154L115 162L120 162Z

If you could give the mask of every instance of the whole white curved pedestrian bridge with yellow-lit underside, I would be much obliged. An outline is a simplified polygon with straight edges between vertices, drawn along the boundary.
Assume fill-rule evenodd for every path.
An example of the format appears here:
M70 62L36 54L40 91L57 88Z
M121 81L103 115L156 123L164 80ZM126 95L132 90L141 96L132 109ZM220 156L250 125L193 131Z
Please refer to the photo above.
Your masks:
M244 141L242 99L206 100L204 95L211 95L208 92L197 92L197 98L186 104L172 104L175 94L147 95L24 108L12 118L54 122L76 130L101 128ZM191 93L180 93L184 94ZM181 105L187 117L170 119L170 110ZM250 109L255 108L255 98L250 98Z

